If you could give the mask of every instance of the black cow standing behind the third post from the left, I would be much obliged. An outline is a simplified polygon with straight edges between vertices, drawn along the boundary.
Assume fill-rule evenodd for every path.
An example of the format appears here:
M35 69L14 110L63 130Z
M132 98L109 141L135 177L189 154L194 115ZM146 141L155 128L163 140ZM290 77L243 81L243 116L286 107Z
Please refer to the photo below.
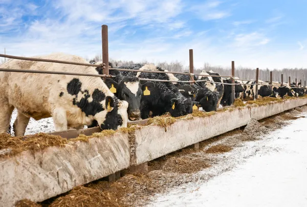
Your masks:
M223 79L223 82L225 82L227 84L232 83L230 78ZM237 80L235 80L234 82L235 82L235 84L239 84L239 85L234 86L235 98L238 98L237 96L240 93L244 92L244 88ZM221 105L223 107L231 105L231 94L232 94L232 85L224 85L224 94L223 94L223 98L221 100Z

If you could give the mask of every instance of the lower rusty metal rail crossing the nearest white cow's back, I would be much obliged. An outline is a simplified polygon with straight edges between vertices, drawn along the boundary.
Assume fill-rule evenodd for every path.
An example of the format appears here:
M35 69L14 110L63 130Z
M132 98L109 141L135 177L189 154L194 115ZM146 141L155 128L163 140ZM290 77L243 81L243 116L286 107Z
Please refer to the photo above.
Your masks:
M16 73L43 73L43 74L57 74L57 75L79 75L79 76L93 76L93 77L115 77L112 75L100 75L100 74L90 74L90 73L71 73L62 71L42 71L42 70L21 70L21 69L7 69L0 68L3 72L16 72Z

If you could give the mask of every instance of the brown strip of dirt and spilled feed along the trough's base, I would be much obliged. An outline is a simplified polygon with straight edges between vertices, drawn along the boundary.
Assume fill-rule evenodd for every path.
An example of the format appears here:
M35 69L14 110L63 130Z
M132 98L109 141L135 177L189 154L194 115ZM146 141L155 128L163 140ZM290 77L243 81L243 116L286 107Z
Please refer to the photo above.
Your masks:
M17 206L142 206L157 193L180 188L184 183L209 180L231 170L235 160L227 152L243 148L245 142L259 140L261 136L288 125L288 120L301 117L301 112L307 112L307 107L260 121L251 120L243 128L200 142L199 150L188 147L148 162L146 173L126 174L115 182L97 180L42 203L23 201ZM238 151L242 156L252 156L243 152ZM218 171L213 172L213 169ZM199 176L198 173L204 170L205 173Z

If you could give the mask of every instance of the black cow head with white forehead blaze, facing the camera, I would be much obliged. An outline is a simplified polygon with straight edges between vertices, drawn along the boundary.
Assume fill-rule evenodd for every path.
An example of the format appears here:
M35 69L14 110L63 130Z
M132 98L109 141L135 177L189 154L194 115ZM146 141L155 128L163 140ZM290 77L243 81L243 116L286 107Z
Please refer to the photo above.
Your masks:
M140 105L143 91L153 87L152 82L141 85L137 77L124 77L119 83L111 78L105 79L105 84L120 100L128 102L128 118L131 121L140 118ZM147 87L147 88L146 88ZM148 90L148 89L147 89Z

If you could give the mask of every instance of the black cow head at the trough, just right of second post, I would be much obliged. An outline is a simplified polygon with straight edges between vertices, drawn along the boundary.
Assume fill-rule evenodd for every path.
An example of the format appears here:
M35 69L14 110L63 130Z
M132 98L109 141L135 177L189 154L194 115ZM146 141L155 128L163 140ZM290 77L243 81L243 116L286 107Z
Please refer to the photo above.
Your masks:
M203 110L206 112L216 111L219 93L208 89L199 88L196 91L196 101L199 101Z

